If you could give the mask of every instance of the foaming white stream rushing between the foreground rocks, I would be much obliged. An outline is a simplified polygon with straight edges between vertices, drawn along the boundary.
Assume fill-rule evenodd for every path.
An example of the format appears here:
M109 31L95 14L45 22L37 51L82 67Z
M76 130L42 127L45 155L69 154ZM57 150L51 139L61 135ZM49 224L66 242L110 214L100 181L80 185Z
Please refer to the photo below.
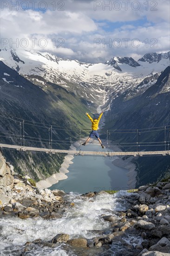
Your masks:
M126 199L131 195L133 194L127 193L127 191L120 191L114 195L103 193L88 198L71 192L66 195L65 199L69 203L73 202L74 206L65 208L62 218L50 220L40 217L29 219L20 219L19 217L1 218L0 255L78 255L72 251L71 247L64 244L60 244L56 248L35 245L33 251L24 253L23 249L24 244L28 241L32 242L40 238L42 241L47 242L58 233L69 234L70 239L78 237L92 239L95 236L100 236L102 231L105 232L106 229L109 229L110 225L110 222L104 221L101 215L114 215L116 211L128 209ZM137 243L137 238L134 239L136 239L134 243ZM128 242L127 240L128 238L126 237L126 242Z

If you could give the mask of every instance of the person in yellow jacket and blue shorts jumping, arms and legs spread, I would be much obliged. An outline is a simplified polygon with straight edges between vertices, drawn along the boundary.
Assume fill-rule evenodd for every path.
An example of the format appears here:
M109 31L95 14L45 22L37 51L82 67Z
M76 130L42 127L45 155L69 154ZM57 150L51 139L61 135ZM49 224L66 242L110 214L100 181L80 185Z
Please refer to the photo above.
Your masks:
M92 117L89 115L89 113L85 113L85 115L88 116L88 118L90 119L90 121L92 122L92 132L91 134L89 135L88 139L82 144L83 146L86 145L86 143L88 141L90 141L91 138L93 138L93 136L96 136L96 138L98 139L98 141L100 142L100 145L102 146L102 148L104 148L103 144L102 144L102 141L100 140L99 138L99 135L98 135L98 123L100 121L100 118L102 117L103 115L103 111L102 113L99 115L98 119L92 119Z

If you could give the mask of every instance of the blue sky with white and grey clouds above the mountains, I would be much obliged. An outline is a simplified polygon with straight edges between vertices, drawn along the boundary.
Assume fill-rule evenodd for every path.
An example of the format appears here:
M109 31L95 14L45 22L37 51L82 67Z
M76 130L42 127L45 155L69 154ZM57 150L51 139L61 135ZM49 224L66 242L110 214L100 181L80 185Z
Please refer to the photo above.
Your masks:
M169 0L3 1L1 47L89 63L170 51Z

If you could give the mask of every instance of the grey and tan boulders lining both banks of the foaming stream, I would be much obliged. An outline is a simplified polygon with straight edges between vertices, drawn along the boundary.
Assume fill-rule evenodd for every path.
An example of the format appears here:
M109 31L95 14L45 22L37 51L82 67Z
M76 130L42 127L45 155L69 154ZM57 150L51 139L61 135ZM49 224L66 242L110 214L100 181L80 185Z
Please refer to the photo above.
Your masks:
M64 191L37 189L31 184L30 177L15 173L2 156L0 159L0 218L57 220L66 209L75 207ZM80 196L93 202L105 193L89 192ZM75 255L122 256L123 252L113 254L111 251L113 244L121 243L126 256L170 256L170 180L155 186L142 186L126 201L129 208L125 211L100 216L110 224L109 228L94 230L92 239L70 239L69 234L59 233L47 242L43 239L28 241L20 255L26 255L37 245L55 248L61 244L72 248ZM140 236L141 242L137 245L126 243L123 237L129 234Z

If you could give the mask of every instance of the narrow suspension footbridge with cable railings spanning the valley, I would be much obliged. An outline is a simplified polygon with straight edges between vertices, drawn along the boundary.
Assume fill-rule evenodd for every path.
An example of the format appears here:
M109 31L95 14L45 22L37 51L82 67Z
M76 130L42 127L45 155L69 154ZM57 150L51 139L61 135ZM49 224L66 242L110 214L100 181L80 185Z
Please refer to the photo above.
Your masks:
M107 130L100 131L101 134L105 134L105 148L100 148L99 143L92 142L89 143L91 148L93 146L99 145L98 148L91 151L85 151L85 147L82 146L84 141L81 137L85 132L90 131L91 129L82 128L79 130L75 129L65 129L63 126L53 126L49 124L21 120L16 117L7 117L0 115L1 118L6 118L15 123L15 126L18 127L15 129L15 134L7 133L6 129L0 131L0 147L14 149L18 151L35 151L46 154L67 154L67 155L89 155L89 156L151 156L151 155L170 155L170 125L163 127L153 127L153 128L142 128L142 129L126 129L126 130ZM36 137L29 135L29 131L33 126L36 129L40 129L41 134L45 135L45 138ZM26 128L27 127L27 128ZM65 149L69 148L72 143L72 138L69 137L67 140L56 140L58 136L61 137L62 133L74 132L75 138L79 137L79 147L77 149ZM161 141L145 141L146 136L149 133L150 138L154 138L155 135L159 135L162 139ZM34 134L37 132L34 131ZM124 137L128 135L131 142L113 142L115 138ZM83 140L83 141L82 141ZM2 142L3 141L3 142ZM127 140L126 140L127 141ZM12 143L13 142L13 143ZM30 144L36 145L30 145ZM38 147L40 144L40 147ZM58 149L58 148L59 149ZM62 148L61 148L62 147ZM120 148L130 148L131 150L121 151ZM134 150L132 150L134 149Z

